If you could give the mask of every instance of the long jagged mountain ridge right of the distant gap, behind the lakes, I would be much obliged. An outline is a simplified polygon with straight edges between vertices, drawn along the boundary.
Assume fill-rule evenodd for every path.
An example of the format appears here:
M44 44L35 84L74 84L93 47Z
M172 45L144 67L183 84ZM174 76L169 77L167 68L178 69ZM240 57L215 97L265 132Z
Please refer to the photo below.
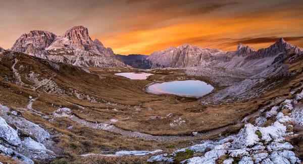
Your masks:
M235 51L222 51L216 48L201 48L190 44L178 47L169 47L167 50L156 51L150 54L148 60L153 63L151 68L159 67L223 67L223 68L257 68L261 69L271 65L283 54L300 53L303 48L287 43L283 38L268 48L254 50L249 46L239 44Z

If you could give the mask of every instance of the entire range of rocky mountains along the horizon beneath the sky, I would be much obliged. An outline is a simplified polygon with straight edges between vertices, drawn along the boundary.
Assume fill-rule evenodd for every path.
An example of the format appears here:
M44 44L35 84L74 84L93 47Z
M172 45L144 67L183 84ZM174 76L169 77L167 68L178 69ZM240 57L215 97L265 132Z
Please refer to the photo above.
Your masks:
M0 52L3 50L0 48ZM254 69L260 73L260 70L268 69L292 53L302 53L303 48L287 43L281 38L268 48L259 50L243 44L239 44L234 51L183 44L155 51L150 56L143 54L122 56L116 55L110 47L106 48L98 39L92 41L87 28L76 26L62 36L47 31L30 31L17 39L11 51L80 67L116 67L127 64L140 69L216 67Z

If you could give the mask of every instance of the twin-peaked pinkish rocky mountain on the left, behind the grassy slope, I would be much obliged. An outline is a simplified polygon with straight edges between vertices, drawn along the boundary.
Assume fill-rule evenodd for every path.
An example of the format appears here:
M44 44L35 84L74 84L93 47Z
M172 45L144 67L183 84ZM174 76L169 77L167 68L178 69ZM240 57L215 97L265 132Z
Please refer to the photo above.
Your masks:
M80 67L125 66L110 47L106 48L97 39L92 41L88 29L83 26L73 27L62 36L47 31L30 31L20 36L11 51Z

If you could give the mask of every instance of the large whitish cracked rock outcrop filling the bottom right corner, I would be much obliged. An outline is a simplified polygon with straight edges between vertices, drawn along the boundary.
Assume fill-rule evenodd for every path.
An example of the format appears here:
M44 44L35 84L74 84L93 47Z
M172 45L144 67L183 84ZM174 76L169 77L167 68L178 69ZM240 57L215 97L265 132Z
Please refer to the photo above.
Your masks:
M300 94L300 93L298 93ZM202 141L201 144L182 148L171 154L165 153L150 157L149 162L165 163L301 163L293 152L294 146L286 137L296 137L293 124L302 125L302 107L296 100L286 99L280 106L274 106L266 113L267 119L275 120L272 125L245 124L236 135L221 137L217 141ZM286 115L284 115L286 114ZM277 112L279 112L277 114ZM277 116L276 116L277 115ZM261 115L260 117L263 117ZM259 118L256 119L260 120ZM202 153L179 161L180 154ZM194 156L194 155L188 155ZM217 160L220 159L221 162Z

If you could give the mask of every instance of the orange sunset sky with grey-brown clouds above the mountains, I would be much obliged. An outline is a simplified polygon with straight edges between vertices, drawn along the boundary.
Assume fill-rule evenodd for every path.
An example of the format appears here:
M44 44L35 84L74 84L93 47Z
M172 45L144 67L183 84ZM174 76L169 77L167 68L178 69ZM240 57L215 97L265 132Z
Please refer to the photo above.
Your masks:
M283 37L303 47L302 0L0 0L0 46L11 48L24 33L62 35L88 28L116 54L147 54L185 43L256 50Z

